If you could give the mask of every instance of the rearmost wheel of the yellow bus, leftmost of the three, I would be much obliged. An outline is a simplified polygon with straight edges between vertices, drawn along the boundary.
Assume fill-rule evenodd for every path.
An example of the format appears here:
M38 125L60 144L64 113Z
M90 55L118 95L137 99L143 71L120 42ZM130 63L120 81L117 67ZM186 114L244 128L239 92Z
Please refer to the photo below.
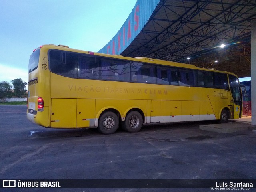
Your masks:
M108 111L100 116L98 130L103 134L115 133L118 128L118 123L117 115Z

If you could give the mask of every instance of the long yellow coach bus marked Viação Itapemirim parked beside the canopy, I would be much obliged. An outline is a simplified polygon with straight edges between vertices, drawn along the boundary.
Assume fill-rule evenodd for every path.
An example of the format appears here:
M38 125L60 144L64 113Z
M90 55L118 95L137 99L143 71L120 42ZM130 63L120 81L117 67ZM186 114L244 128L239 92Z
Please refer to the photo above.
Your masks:
M30 121L48 128L118 127L242 116L238 77L229 72L145 57L43 45L28 65Z

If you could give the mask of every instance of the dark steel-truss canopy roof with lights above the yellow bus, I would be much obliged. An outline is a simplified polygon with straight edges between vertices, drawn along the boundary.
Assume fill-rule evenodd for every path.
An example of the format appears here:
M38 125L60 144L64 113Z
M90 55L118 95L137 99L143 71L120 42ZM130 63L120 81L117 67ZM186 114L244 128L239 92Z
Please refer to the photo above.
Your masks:
M139 8L149 2L138 0L129 17L145 15ZM154 4L144 26L118 54L250 76L250 25L256 19L255 0L154 0ZM221 44L225 46L221 48Z

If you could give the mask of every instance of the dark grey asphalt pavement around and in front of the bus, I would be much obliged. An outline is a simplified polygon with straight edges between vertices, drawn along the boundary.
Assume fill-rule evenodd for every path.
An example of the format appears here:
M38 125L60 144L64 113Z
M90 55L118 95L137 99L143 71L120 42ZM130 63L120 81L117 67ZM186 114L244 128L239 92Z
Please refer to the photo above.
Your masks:
M26 119L26 106L0 106L0 179L256 179L256 131L199 130L206 123L213 122L147 125L138 133L102 135L96 129L46 129Z

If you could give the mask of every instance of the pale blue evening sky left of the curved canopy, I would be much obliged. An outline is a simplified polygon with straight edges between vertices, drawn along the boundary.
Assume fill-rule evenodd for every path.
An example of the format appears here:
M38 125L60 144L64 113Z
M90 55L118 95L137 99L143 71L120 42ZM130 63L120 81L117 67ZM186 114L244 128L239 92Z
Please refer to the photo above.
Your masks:
M0 0L0 81L27 82L28 60L43 44L99 51L137 0Z

